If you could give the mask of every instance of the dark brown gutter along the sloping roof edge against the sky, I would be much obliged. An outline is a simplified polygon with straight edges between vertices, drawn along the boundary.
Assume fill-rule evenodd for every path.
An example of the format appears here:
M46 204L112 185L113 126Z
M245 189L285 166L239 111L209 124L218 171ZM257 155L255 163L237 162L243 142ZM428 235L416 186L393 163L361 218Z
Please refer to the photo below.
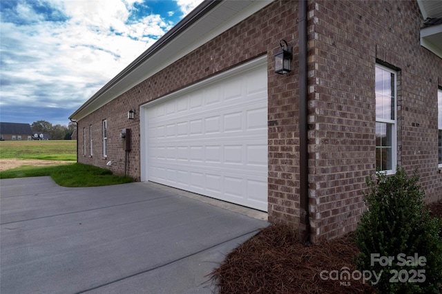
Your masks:
M222 0L204 0L199 6L197 6L194 10L189 12L189 14L184 17L177 25L175 25L171 30L166 32L158 41L156 41L151 47L149 47L146 51L143 52L140 56L135 59L131 64L129 64L127 67L124 68L117 76L115 76L111 81L109 81L104 87L102 87L100 90L98 90L97 93L95 93L92 97L89 98L86 103L81 105L79 109L77 109L73 114L69 116L70 118L75 117L79 112L81 112L83 109L87 108L89 105L95 102L95 100L107 92L108 90L111 90L111 88L117 84L124 76L126 76L129 72L131 72L136 67L140 66L144 61L151 58L155 53L160 51L164 46L166 46L168 43L170 43L173 39L175 39L176 36L181 34L184 30L189 28L193 23L198 21L201 17L203 17L207 12L212 10L215 6L218 6Z

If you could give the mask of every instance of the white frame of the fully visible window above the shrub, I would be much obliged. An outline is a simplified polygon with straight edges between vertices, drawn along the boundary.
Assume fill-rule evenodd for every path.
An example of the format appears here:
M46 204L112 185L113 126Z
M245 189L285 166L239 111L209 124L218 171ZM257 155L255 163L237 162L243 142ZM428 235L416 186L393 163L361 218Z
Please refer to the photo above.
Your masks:
M394 119L386 119L376 116L376 123L387 123L392 125L392 138L391 138L391 144L392 144L392 155L390 160L392 161L392 168L391 169L381 169L381 172L384 172L386 174L395 174L396 173L396 165L397 165L397 101L398 101L398 92L397 92L397 75L398 73L396 70L392 70L390 67L386 67L384 65L376 63L376 67L378 67L381 70L385 70L386 72L390 72L391 74L394 74L394 103L392 107L394 107ZM375 86L375 93L378 91ZM376 154L377 149L380 148L376 145ZM376 164L376 169L378 168Z

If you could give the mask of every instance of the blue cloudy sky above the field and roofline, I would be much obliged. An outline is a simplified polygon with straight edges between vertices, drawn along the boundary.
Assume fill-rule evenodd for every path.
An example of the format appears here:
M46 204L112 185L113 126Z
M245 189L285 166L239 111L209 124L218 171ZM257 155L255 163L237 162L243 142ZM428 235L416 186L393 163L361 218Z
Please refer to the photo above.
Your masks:
M68 117L202 0L0 0L0 121Z

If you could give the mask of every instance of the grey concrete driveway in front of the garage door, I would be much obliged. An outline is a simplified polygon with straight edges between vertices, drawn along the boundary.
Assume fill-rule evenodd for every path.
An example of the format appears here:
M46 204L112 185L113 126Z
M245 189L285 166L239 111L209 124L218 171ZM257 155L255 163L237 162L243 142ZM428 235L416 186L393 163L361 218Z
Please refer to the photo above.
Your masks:
M206 275L268 225L143 182L18 178L0 193L1 294L212 293Z

